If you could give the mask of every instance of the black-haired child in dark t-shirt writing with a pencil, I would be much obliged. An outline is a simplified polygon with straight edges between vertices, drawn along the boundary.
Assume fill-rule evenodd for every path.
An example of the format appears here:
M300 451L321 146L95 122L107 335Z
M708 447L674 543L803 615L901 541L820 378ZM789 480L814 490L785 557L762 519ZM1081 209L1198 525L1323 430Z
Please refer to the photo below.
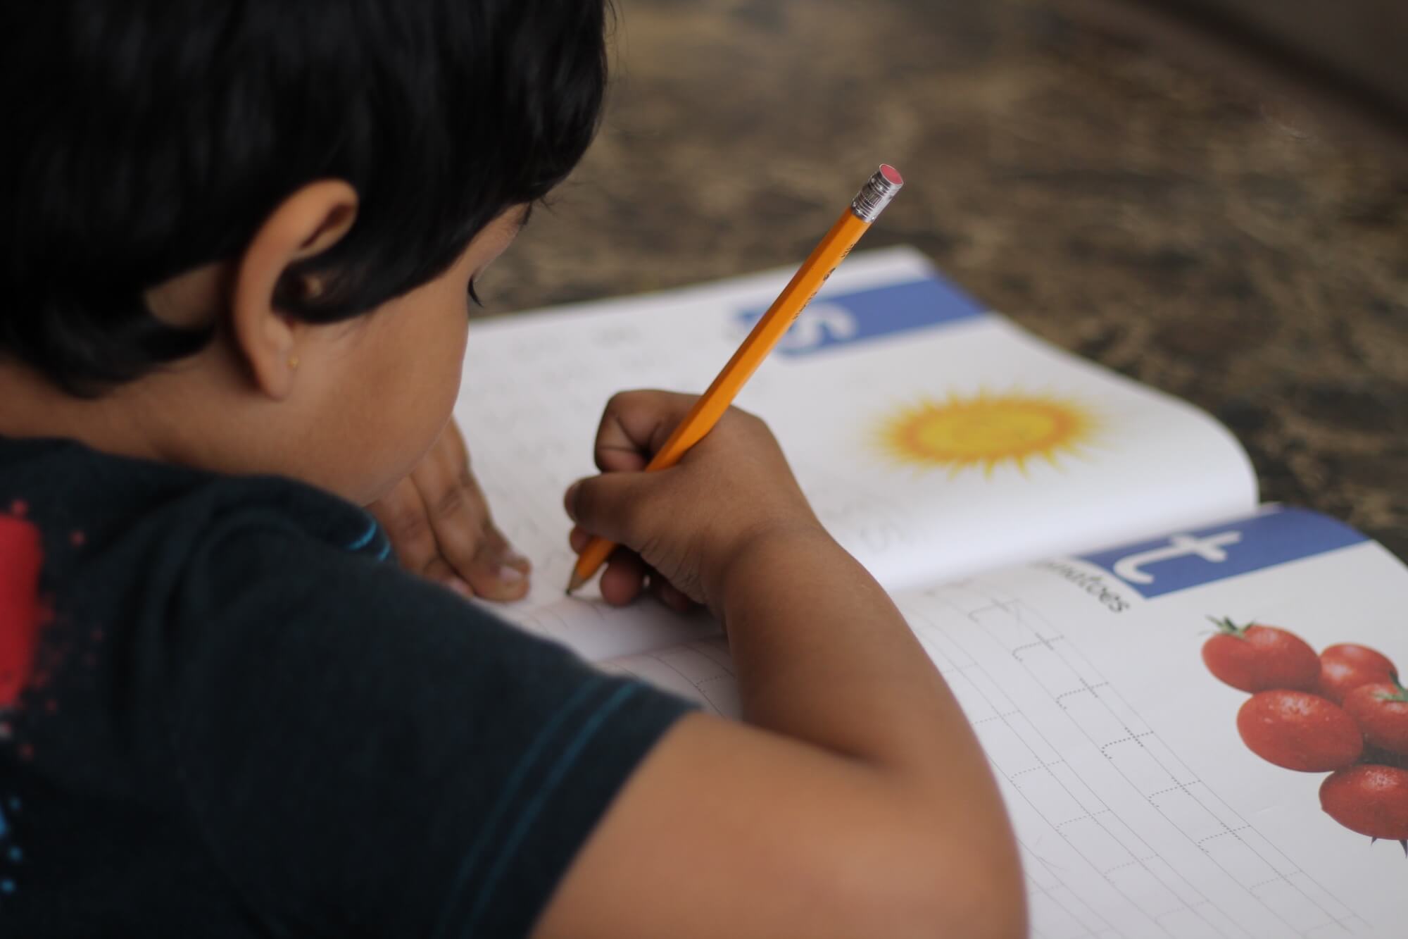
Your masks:
M441 438L466 292L587 147L603 0L0 17L0 935L1024 931L970 729L759 420L645 475L690 399L620 395L566 493L579 550L632 548L608 596L727 626L743 725L356 508Z

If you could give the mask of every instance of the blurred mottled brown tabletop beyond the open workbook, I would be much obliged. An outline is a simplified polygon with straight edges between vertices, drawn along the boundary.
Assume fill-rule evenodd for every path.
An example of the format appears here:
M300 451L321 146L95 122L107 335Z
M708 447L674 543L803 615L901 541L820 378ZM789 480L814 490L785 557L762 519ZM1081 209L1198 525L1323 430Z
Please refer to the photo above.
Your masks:
M617 0L584 165L489 313L912 244L1408 558L1402 0ZM473 334L470 336L473 341Z

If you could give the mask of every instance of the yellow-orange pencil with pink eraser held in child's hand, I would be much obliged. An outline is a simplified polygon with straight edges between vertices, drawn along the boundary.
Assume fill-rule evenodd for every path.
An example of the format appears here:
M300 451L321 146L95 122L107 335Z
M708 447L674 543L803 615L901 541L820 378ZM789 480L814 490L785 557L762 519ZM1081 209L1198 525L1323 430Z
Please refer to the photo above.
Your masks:
M787 333L797 314L811 303L811 299L817 296L817 292L826 282L826 278L831 276L831 272L846 259L846 255L856 247L860 235L880 217L880 213L884 211L884 207L890 204L890 200L894 199L903 185L904 178L900 176L894 166L883 164L876 171L874 176L866 182L855 200L841 213L841 219L831 227L831 231L821 240L821 244L811 252L811 257L803 262L791 282L783 288L783 292L773 300L773 305L767 307L763 319L758 320L758 326L753 327L753 331L748 334L743 344L734 352L734 358L728 360L728 365L718 374L714 383L694 402L690 413L684 416L680 426L674 429L670 438L665 441L665 446L650 460L645 468L646 472L673 467L690 447L703 440L704 434L714 429L718 419L734 403L734 398L742 391L743 383L753 376L758 367L763 364L767 354L773 351L777 341ZM593 539L577 557L577 565L572 572L572 579L567 582L567 592L570 594L590 581L597 570L605 564L614 547L615 544L605 539Z

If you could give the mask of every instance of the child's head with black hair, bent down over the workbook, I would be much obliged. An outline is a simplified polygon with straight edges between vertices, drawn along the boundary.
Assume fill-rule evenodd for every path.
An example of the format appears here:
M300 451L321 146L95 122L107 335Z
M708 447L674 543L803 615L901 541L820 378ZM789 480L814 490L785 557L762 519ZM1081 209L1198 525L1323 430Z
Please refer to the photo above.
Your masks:
M108 434L114 410L161 410L124 419L155 436L135 451L376 496L448 417L470 278L593 135L603 18L603 0L7 4L8 388L62 389L55 415L103 410Z

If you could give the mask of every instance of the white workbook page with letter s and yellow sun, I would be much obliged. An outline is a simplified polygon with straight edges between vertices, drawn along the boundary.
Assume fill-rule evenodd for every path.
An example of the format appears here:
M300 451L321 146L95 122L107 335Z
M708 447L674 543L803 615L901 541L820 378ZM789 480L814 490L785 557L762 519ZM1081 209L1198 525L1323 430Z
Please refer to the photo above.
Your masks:
M629 637L610 634L615 613L562 596L573 563L562 493L594 472L591 441L611 393L703 391L746 334L745 313L765 309L790 275L474 326L456 417L497 520L535 564L534 592L511 619L548 625L589 657L629 650L648 634L642 616L662 623L660 643L698 634L659 612L625 613ZM852 257L738 400L767 420L822 522L888 588L1255 508L1249 461L1214 420L980 313L936 276L907 248ZM953 310L964 314L943 319ZM1000 396L1007 410L994 413ZM932 462L932 453L904 462L879 443L880 427L922 402L939 406L929 422L952 427L962 415L950 399L986 407L980 423L1008 430L988 441L993 455L1010 458L990 468ZM1093 426L1062 430L1042 416L1050 406ZM1033 454L1019 465L1014 447Z

